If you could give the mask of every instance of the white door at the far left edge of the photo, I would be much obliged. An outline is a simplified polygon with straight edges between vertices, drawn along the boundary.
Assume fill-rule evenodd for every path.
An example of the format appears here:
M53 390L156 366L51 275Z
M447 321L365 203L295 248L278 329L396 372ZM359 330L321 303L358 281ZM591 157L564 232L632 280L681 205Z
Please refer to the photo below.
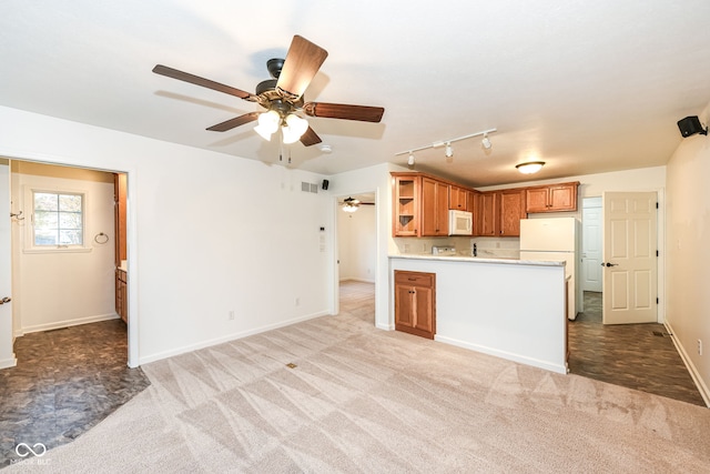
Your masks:
M0 369L17 364L12 352L12 269L10 260L10 165L0 159Z

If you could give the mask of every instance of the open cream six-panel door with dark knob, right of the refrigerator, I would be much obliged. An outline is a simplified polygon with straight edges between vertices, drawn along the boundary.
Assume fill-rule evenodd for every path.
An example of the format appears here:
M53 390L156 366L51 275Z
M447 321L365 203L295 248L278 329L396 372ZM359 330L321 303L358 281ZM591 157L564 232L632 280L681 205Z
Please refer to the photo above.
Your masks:
M604 193L604 324L658 320L657 202L655 192Z

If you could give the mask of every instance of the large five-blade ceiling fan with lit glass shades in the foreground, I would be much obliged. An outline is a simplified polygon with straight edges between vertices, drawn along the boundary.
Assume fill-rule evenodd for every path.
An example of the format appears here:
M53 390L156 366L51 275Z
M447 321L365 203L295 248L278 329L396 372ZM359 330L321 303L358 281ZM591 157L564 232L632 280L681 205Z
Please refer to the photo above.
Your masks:
M281 129L284 143L301 141L305 147L311 147L321 143L321 138L297 113L317 118L379 122L385 112L382 107L306 102L303 93L327 56L328 52L323 48L303 37L294 36L286 52L286 59L275 58L266 62L266 69L273 79L260 82L254 94L162 64L156 64L153 72L235 95L250 102L257 102L266 109L265 112L250 112L235 117L212 125L207 130L225 132L245 123L258 121L254 130L266 140L271 140L272 133Z

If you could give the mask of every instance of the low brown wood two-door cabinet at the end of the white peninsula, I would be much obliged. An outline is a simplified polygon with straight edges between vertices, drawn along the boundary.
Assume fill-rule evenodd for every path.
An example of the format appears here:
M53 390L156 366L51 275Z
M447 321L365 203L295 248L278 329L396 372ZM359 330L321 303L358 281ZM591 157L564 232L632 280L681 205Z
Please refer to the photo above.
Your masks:
M395 270L395 329L422 337L436 334L436 274Z

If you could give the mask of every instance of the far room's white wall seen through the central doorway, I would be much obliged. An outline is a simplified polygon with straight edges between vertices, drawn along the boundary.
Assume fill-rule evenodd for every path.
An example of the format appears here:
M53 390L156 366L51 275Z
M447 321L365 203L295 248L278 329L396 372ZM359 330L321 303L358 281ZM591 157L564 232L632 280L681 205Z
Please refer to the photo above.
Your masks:
M375 282L377 214L374 205L337 212L339 280Z

